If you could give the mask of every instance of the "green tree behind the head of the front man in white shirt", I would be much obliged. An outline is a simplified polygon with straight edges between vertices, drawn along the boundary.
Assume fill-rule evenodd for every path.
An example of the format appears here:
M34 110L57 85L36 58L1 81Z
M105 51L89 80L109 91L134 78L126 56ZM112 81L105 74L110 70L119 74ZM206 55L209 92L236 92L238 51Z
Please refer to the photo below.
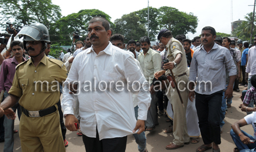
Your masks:
M110 27L115 27L110 21L111 17L106 13L97 9L84 9L78 13L69 14L56 22L54 27L59 33L59 35L56 35L56 40L65 40L62 44L70 45L73 32L78 30L80 35L86 35L89 21L96 16L107 19Z

